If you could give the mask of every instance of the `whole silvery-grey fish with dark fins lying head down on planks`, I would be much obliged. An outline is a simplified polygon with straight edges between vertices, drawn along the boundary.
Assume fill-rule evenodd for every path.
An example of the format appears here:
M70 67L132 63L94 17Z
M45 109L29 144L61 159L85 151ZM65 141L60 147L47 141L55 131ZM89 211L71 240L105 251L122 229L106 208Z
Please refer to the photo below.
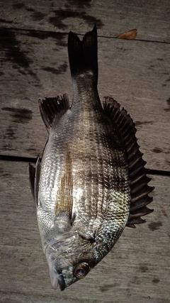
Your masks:
M81 280L123 233L152 213L135 123L113 97L98 96L97 29L69 32L68 94L39 99L48 139L29 165L38 228L53 289Z

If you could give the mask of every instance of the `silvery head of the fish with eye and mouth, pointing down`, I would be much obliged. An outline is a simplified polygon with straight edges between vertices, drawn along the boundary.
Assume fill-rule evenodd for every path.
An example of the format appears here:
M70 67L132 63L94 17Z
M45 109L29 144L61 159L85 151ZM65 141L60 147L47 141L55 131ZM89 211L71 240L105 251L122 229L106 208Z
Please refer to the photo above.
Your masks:
M53 289L64 290L86 277L96 265L93 244L79 234L62 238L45 249Z

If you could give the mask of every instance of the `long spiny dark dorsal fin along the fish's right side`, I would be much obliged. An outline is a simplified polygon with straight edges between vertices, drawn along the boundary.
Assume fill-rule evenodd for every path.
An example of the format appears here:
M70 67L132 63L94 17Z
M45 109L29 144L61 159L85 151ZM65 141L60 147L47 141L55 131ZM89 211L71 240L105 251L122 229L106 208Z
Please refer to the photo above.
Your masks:
M145 216L153 211L146 205L152 202L152 197L149 197L148 194L154 187L148 185L151 179L147 177L146 162L142 159L143 154L140 152L140 146L137 144L135 136L137 130L130 115L124 108L120 109L120 104L111 97L105 97L103 109L110 116L125 144L131 189L130 215L126 225L135 227L134 224L145 222L140 216Z

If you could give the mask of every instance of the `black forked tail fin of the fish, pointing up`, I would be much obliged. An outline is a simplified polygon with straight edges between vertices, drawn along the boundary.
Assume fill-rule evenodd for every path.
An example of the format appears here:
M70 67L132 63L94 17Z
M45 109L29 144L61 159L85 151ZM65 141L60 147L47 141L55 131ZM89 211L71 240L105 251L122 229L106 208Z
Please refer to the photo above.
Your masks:
M69 32L68 38L69 66L72 77L83 72L93 72L96 84L98 82L97 28L84 35L79 40L77 34Z

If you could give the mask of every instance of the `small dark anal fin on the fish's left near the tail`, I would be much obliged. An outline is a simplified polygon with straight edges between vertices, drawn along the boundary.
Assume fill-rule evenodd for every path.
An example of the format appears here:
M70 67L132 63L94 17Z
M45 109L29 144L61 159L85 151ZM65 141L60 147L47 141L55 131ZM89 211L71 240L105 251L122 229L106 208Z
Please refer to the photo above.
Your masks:
M42 120L45 123L48 132L52 127L53 120L59 120L67 109L69 109L69 97L67 94L55 98L39 99L38 103Z

